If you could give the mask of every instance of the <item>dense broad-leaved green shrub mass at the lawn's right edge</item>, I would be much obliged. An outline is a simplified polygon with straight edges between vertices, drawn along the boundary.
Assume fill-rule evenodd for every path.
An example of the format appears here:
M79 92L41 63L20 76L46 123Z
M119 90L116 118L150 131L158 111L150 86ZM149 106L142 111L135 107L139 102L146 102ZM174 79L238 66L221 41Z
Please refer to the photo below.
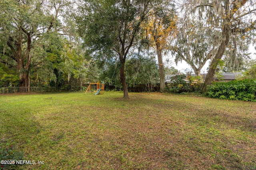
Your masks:
M256 79L214 82L208 86L206 95L210 98L256 102Z

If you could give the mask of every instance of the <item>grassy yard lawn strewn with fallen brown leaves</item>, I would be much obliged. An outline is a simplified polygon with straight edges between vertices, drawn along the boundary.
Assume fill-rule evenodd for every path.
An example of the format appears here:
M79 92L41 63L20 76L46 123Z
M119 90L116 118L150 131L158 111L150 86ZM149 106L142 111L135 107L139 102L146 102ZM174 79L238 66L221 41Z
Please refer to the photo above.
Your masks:
M256 169L256 103L122 95L0 96L0 147L44 161L25 170Z

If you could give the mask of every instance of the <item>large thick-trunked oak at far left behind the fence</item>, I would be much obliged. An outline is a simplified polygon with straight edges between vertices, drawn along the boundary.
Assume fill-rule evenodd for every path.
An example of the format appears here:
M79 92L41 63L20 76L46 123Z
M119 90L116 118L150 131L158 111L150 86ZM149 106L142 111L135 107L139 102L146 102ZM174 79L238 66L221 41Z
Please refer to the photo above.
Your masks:
M32 63L36 42L51 37L51 33L63 33L59 18L68 4L60 0L0 1L0 43L12 51L10 57L15 61L20 87L28 87L30 68L42 63Z

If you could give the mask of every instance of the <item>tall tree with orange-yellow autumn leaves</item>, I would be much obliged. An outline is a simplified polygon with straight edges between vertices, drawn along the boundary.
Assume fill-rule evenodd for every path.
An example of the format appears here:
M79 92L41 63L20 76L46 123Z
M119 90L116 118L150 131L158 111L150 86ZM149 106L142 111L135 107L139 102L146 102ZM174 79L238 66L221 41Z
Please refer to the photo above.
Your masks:
M160 73L160 90L165 91L165 75L163 55L170 50L171 39L176 37L177 16L174 5L170 0L164 0L158 8L151 11L151 15L145 22L146 38L153 43L156 49L158 68Z

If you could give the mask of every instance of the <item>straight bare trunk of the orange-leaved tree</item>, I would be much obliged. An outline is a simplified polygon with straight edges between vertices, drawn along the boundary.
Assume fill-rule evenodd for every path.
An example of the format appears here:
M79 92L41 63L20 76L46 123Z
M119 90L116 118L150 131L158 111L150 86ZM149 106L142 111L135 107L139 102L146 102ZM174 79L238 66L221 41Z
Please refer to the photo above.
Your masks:
M165 77L164 77L164 64L162 59L162 50L160 48L160 43L156 43L156 53L157 53L157 59L158 59L158 66L159 66L159 72L160 72L160 91L165 91Z

